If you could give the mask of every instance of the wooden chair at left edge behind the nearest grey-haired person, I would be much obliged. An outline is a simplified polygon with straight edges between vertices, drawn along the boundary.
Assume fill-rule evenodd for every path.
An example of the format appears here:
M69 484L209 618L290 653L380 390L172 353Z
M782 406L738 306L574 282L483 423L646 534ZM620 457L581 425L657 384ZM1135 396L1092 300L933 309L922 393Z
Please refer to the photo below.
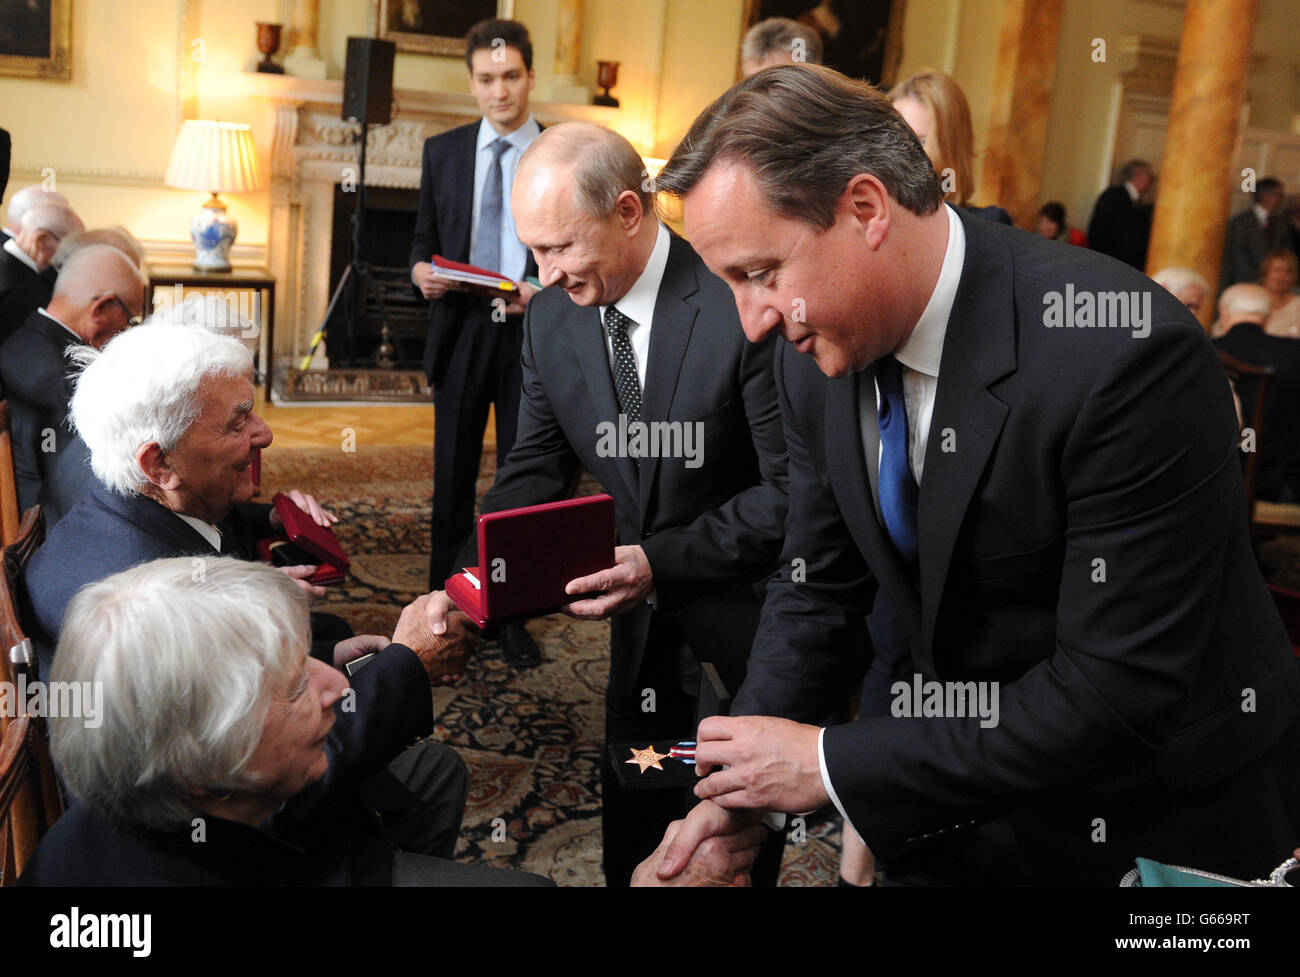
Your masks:
M18 620L18 582L46 535L40 507L27 509L17 539L4 548L0 586L0 681L36 681L36 656ZM16 689L17 691L17 689ZM58 781L49 760L46 721L0 715L0 885L10 886L40 837L62 813Z

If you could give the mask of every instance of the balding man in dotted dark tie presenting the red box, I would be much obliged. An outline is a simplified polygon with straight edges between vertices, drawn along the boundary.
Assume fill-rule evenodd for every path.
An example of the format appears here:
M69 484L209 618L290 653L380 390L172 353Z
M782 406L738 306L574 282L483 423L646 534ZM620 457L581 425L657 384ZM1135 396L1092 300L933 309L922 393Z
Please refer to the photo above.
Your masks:
M610 618L607 744L689 737L698 663L738 687L755 587L780 551L771 343L744 342L727 288L655 220L641 159L616 133L549 129L520 165L514 205L549 287L524 317L519 438L482 508L563 499L578 465L595 476L615 499L615 565L572 581L569 594L598 595L567 609ZM676 427L677 450L634 456L618 434L634 421ZM463 565L473 556L471 540ZM684 798L621 791L608 750L601 782L604 874L623 886Z

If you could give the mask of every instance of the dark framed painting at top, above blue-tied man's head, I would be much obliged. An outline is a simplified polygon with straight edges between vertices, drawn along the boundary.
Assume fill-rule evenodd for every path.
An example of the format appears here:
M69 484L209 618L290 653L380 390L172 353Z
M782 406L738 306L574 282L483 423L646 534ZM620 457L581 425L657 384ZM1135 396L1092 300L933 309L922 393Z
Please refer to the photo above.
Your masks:
M742 30L768 17L800 21L822 35L824 64L888 90L898 81L906 6L907 0L745 0Z

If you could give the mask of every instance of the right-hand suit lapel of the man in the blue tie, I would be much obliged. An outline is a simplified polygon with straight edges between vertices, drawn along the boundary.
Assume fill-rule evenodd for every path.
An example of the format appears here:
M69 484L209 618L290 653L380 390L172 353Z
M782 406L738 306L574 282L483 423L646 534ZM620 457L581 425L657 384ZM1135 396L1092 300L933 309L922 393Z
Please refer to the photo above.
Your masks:
M980 218L961 214L966 262L944 335L918 499L922 656L931 643L953 544L997 444L1008 407L988 387L1015 370L1013 255Z

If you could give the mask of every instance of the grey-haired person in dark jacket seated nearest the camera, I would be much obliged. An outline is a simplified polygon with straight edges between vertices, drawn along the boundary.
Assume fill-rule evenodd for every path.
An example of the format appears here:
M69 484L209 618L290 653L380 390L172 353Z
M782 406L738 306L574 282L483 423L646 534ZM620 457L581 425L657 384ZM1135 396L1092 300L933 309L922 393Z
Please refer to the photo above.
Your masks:
M95 689L95 715L51 720L82 803L20 883L546 885L394 854L363 816L358 785L433 729L429 681L458 635L433 635L426 602L350 687L308 656L306 595L269 566L170 559L87 586L52 679Z

